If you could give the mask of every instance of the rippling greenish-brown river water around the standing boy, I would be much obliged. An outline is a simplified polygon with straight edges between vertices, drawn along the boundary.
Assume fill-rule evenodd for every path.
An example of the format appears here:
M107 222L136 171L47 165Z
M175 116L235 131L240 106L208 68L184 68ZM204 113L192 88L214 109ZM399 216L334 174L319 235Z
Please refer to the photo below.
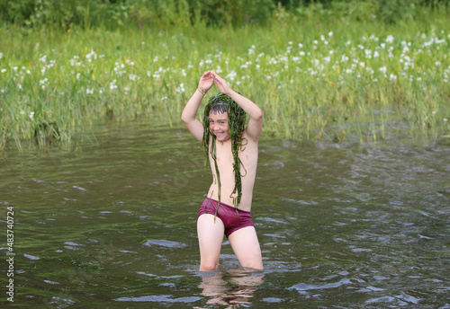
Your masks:
M263 139L252 215L265 269L224 239L198 272L196 216L211 181L185 129L129 123L79 153L14 149L14 303L2 307L450 308L450 146ZM33 146L31 146L33 148Z

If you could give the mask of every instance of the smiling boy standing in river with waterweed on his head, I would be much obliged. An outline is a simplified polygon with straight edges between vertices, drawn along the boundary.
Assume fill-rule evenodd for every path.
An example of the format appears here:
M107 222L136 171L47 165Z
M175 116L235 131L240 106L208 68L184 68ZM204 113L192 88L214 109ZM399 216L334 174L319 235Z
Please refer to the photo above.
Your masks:
M213 84L221 93L206 106L202 124L195 115ZM243 117L247 113L250 118L247 128L242 125L245 119L237 116L239 110ZM224 233L242 267L263 269L250 215L257 174L257 143L263 128L262 111L257 104L234 92L219 75L208 71L202 75L181 119L193 137L206 147L213 179L197 219L200 271L218 268Z

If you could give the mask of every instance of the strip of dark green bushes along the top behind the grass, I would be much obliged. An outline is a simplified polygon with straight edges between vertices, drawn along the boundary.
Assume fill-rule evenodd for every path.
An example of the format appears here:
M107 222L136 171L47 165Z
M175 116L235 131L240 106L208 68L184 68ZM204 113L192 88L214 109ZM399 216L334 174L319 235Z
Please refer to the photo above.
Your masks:
M414 18L421 6L448 8L450 0L4 0L0 21L31 28L241 27L265 24L280 8L393 23Z

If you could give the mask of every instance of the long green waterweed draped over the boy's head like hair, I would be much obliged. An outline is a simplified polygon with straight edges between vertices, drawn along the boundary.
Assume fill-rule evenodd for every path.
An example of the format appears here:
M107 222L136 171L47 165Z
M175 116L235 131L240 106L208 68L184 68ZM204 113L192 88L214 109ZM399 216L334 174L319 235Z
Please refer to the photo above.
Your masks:
M213 114L228 113L228 121L229 121L229 137L231 139L231 153L233 154L233 170L235 177L235 187L231 194L238 193L237 197L234 198L234 207L236 207L236 211L238 212L238 205L240 203L240 199L242 197L242 181L240 175L240 166L244 166L239 159L238 150L243 146L242 145L242 132L246 128L246 117L247 114L242 108L238 105L237 102L234 102L228 95L224 93L217 93L206 104L204 108L203 115L203 140L202 146L206 153L205 165L208 165L210 161L211 154L212 160L214 160L214 166L217 175L218 187L219 187L219 205L220 205L220 173L217 165L217 157L216 157L216 136L212 134L210 128L210 111ZM211 138L211 147L210 147L210 137ZM211 149L210 149L211 148ZM216 208L219 209L219 205Z

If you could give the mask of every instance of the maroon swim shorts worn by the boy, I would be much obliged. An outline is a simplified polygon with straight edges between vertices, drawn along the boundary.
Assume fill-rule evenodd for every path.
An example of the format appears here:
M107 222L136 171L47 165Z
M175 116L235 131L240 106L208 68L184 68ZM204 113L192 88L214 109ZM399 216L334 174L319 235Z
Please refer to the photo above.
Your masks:
M202 206L198 211L197 219L203 214L210 214L213 216L216 213L218 203L219 202L215 199L204 199L202 202ZM238 231L243 227L255 226L253 224L253 219L249 211L238 209L237 213L235 207L231 207L222 202L220 202L219 210L217 211L217 217L220 218L220 220L222 220L223 222L223 225L225 225L225 235L227 236L227 238L229 237L229 234Z

